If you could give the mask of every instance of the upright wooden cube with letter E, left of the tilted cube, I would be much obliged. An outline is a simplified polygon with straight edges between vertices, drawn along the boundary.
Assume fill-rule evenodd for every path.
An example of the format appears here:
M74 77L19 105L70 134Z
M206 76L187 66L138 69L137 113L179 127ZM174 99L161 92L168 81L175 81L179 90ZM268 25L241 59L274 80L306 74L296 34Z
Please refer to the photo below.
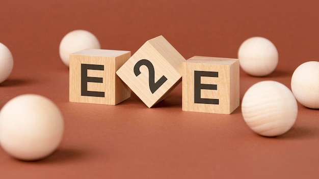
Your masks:
M70 54L70 102L116 105L131 91L116 75L130 51L87 49Z

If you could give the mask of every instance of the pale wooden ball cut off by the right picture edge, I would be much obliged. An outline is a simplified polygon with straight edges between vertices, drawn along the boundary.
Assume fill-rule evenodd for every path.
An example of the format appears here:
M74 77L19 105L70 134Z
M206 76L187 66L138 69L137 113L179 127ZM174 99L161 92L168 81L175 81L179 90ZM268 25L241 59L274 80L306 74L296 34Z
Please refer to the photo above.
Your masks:
M319 62L301 64L291 77L291 90L302 105L319 109Z

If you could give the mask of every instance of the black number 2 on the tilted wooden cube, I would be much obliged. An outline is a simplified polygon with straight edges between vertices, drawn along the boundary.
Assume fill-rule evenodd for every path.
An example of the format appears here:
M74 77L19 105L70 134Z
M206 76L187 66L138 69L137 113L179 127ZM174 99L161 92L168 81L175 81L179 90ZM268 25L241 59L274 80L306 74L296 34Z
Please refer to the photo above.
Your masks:
M140 67L145 65L148 68L148 83L149 83L149 89L151 90L152 94L158 90L159 87L162 86L162 84L167 80L167 78L163 75L161 78L159 78L155 82L155 71L153 64L148 61L147 59L141 59L138 63L134 66L134 73L135 76L139 76L141 74Z

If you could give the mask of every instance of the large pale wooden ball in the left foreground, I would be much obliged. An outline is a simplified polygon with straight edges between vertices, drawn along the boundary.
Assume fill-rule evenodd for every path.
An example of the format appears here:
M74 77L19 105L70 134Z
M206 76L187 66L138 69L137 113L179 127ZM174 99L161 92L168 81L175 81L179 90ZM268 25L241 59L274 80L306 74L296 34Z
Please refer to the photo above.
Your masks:
M19 160L39 160L56 150L64 131L63 116L49 99L26 94L0 111L0 144Z

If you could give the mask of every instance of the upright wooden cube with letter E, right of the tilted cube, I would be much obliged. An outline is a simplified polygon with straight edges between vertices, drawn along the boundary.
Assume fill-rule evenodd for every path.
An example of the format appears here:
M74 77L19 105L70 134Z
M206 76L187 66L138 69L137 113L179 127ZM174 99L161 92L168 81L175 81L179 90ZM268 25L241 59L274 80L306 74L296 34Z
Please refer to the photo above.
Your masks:
M230 114L240 105L239 61L194 56L183 63L182 110Z

